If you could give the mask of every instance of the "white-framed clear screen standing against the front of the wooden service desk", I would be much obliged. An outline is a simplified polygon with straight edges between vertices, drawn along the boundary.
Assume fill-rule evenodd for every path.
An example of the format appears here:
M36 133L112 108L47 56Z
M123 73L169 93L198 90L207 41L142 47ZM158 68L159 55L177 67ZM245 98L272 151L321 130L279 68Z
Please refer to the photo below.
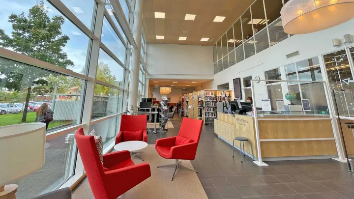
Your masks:
M287 85L300 85L302 104L293 103L297 93ZM338 156L324 81L251 80L251 87L257 165L269 157Z

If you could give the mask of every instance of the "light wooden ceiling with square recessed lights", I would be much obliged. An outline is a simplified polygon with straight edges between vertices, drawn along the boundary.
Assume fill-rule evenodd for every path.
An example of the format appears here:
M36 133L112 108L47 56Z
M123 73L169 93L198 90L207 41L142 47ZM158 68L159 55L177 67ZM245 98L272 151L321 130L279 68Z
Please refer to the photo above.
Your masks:
M148 43L212 45L232 26L254 0L144 0L144 29ZM154 12L164 12L165 19L156 19ZM196 14L194 21L186 21L186 14ZM215 16L225 16L222 23L213 22ZM187 31L187 32L183 32ZM156 39L163 35L164 39ZM186 36L186 41L179 41ZM201 42L202 37L215 38Z

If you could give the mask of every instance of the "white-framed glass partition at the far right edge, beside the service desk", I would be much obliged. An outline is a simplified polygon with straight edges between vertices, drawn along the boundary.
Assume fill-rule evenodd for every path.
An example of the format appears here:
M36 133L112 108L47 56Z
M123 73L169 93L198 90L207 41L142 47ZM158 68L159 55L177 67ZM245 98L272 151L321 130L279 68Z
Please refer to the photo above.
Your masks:
M346 158L349 160L349 171L354 172L354 81L353 51L340 50L323 56L327 81L337 115L341 140ZM349 53L349 56L348 56Z

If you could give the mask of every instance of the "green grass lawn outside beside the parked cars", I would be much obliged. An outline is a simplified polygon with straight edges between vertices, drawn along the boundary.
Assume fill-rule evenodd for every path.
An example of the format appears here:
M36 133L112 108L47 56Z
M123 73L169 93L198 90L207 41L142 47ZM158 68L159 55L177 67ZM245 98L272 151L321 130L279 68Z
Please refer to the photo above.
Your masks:
M35 114L36 114L35 112L27 113L27 121L25 121L25 122L21 122L22 113L0 115L0 126L34 122ZM48 129L59 126L59 125L63 125L66 123L70 123L70 122L72 122L72 121L51 121L49 123Z

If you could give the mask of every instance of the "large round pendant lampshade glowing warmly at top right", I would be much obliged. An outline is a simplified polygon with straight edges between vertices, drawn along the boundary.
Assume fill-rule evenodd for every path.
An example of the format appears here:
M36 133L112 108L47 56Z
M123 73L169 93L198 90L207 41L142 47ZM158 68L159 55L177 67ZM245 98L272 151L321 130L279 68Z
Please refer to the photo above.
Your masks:
M280 13L286 33L311 33L353 19L354 0L289 0Z

